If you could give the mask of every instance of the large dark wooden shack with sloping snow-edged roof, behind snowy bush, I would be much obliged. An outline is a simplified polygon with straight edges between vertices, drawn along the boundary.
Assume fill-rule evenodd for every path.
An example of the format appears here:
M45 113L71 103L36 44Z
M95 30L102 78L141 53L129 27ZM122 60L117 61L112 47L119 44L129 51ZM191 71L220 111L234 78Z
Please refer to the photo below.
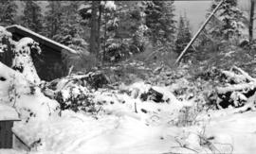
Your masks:
M33 57L33 62L37 70L37 74L41 79L46 81L64 77L67 69L63 63L64 55L73 55L77 52L64 44L50 40L24 26L7 26L6 29L12 33L12 40L19 41L24 37L29 37L40 44L42 49L41 55ZM9 60L6 63L8 64Z

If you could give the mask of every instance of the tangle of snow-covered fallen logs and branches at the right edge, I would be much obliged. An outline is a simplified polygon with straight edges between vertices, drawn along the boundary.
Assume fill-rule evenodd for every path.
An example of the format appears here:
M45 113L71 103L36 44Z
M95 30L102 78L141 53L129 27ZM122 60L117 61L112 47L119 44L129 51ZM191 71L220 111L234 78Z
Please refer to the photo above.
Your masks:
M232 72L231 72L232 71ZM231 71L222 71L228 78L225 87L217 87L218 94L217 107L227 108L229 105L234 107L249 107L254 109L256 92L256 78L250 77L243 69L233 66Z

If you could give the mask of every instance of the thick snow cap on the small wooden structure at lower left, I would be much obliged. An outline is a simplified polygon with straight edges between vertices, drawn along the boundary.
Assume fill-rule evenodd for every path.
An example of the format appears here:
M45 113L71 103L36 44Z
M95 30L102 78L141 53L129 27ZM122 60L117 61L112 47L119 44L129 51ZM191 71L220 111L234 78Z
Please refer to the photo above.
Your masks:
M17 111L5 104L0 104L0 121L19 120Z

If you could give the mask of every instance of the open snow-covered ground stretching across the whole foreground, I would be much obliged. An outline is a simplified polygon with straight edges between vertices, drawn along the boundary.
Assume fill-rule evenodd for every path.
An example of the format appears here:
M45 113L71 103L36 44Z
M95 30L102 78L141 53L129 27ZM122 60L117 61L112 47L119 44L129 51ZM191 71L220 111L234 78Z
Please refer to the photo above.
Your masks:
M139 82L127 89L142 91L148 86ZM142 102L133 95L99 91L95 93L95 101L104 100L105 105L98 115L66 110L62 116L54 114L45 120L15 122L13 132L33 146L31 153L42 154L253 153L256 150L256 112L234 113L233 109L202 112L196 117L197 125L176 127L170 121L178 118L181 108L192 106L192 102L176 100L167 87L154 88L171 101ZM21 153L22 149L0 152Z

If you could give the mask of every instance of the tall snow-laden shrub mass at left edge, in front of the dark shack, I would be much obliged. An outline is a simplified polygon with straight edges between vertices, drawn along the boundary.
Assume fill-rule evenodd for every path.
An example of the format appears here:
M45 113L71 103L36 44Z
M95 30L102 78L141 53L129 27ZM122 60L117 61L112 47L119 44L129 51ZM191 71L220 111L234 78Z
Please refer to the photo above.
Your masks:
M38 87L41 80L33 65L31 53L41 53L39 44L30 38L23 38L16 43L3 27L0 27L0 38L0 46L4 49L8 47L8 52L13 54L13 69L0 62L0 103L15 108L19 117L26 122L30 119L46 120L58 112L59 105L57 101L42 94ZM4 44L3 38L9 42Z

